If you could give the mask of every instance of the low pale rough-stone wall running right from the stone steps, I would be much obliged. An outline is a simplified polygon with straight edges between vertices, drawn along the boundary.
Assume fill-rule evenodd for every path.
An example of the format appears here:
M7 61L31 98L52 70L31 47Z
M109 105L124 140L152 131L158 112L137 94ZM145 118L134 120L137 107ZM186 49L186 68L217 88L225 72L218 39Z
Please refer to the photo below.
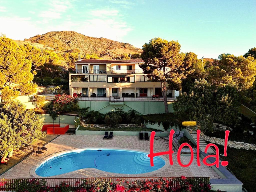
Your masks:
M206 141L224 146L225 139L220 139L217 137L208 137L203 133L201 133L201 136ZM233 147L236 149L256 150L256 145L239 142L239 141L228 141L228 147Z

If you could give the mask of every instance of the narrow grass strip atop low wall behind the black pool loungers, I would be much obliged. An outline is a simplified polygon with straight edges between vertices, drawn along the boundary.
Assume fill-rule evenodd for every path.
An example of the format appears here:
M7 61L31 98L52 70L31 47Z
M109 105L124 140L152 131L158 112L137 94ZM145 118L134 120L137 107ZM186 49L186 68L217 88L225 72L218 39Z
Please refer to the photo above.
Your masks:
M100 128L100 127L84 127L80 126L78 131L157 131L152 128L144 128L144 127L109 127L109 128Z

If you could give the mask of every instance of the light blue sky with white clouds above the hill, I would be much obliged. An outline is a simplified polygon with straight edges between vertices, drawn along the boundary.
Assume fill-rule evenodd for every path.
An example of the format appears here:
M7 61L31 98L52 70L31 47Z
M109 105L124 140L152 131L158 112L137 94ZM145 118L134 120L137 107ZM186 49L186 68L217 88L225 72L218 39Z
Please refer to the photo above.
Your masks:
M178 40L198 58L243 55L256 47L256 1L0 0L0 33L24 40L71 30L141 48Z

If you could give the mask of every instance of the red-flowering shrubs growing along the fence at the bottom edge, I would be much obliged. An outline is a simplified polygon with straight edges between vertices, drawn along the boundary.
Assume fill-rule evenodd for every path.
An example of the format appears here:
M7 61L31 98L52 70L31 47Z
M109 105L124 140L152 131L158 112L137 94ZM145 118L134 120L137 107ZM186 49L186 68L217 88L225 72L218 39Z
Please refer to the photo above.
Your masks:
M211 191L209 179L187 178L181 176L174 180L146 179L136 180L129 183L125 179L116 179L115 183L109 179L95 178L93 181L87 179L78 180L74 186L68 182L61 182L55 187L58 192L209 192ZM30 179L16 180L13 184L16 192L50 192L54 189L46 186L45 180Z

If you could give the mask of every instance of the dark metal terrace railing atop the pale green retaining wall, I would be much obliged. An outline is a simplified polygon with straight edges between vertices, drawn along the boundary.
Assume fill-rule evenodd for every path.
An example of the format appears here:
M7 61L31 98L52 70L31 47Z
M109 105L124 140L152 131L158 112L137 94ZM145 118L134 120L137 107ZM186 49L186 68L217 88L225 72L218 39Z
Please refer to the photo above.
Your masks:
M123 102L123 101L164 101L163 97L158 97L158 98L153 98L151 97L120 97L120 100L114 97L119 97L118 93L114 93L114 95L110 96L110 97L77 97L78 101L115 101L115 102ZM48 101L53 101L55 98L55 95L46 95L44 96L45 100ZM167 101L176 101L177 97L167 97Z

